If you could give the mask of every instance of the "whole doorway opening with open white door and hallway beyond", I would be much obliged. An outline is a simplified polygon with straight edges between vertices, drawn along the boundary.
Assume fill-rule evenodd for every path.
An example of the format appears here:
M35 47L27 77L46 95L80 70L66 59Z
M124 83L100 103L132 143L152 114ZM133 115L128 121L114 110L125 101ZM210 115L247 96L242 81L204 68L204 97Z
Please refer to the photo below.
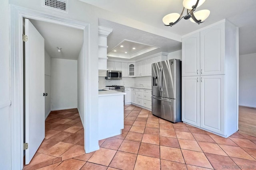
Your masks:
M23 43L24 143L30 144L24 158L32 166L73 145L84 148L84 66L78 65L84 58L84 32L25 18L23 25L29 37Z

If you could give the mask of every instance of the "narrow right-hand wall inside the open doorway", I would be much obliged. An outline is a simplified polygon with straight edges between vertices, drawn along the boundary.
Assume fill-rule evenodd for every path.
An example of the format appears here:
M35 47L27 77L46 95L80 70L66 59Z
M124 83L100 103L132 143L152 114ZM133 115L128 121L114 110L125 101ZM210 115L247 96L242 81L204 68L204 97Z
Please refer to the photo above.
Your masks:
M84 45L77 59L77 109L84 125Z

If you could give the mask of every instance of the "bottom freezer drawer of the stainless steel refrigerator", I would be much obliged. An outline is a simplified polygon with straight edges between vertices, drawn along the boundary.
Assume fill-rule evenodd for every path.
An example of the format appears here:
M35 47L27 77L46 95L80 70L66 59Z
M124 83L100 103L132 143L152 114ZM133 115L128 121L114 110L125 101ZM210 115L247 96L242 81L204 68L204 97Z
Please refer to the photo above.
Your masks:
M168 121L181 121L180 111L176 112L176 99L152 96L152 114Z

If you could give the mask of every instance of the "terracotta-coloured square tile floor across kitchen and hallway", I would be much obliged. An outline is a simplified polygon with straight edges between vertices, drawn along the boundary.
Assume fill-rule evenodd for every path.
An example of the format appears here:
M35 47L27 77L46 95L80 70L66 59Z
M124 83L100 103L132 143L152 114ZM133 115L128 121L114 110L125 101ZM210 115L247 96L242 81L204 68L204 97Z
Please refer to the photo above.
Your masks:
M45 139L24 170L207 170L256 169L256 137L234 133L227 139L146 109L124 106L122 135L99 141L85 154L77 109L52 111Z

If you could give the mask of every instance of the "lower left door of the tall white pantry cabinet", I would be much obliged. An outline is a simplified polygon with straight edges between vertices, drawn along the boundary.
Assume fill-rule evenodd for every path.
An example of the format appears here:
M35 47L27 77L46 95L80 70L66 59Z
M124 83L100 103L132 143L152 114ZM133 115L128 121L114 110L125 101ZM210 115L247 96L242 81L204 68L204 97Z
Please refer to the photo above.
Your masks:
M200 76L182 77L182 121L200 126Z

